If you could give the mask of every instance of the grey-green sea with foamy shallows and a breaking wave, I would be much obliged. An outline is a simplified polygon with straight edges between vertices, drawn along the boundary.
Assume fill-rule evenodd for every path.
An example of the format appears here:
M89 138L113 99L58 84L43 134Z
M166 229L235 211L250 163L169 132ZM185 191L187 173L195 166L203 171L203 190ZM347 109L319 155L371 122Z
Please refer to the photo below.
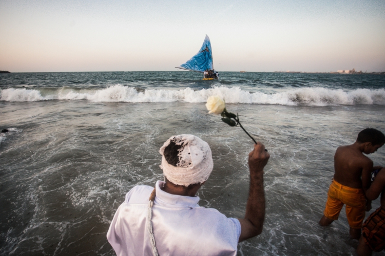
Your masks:
M0 254L114 255L115 210L133 186L163 180L158 151L176 134L213 152L200 206L243 218L253 142L207 113L207 97L220 95L271 154L263 232L238 255L355 255L344 209L329 227L318 221L336 148L367 127L385 132L384 88L385 76L369 74L0 74ZM385 165L384 152L369 157Z

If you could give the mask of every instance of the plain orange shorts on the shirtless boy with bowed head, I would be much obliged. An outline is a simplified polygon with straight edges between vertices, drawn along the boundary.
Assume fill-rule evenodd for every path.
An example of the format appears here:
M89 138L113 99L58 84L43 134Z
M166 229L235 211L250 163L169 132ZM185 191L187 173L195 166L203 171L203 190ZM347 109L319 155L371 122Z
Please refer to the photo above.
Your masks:
M342 206L346 204L349 226L359 229L365 218L366 198L362 188L343 186L333 180L328 191L328 201L323 214L332 220L338 220Z

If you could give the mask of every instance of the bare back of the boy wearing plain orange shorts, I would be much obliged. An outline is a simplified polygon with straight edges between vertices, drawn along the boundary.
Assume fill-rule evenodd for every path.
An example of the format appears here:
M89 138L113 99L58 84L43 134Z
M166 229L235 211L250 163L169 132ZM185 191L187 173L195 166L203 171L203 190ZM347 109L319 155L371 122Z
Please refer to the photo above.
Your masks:
M368 167L370 171L370 166L373 166L372 160L364 156L354 145L340 146L334 155L334 180L344 186L362 188L362 170ZM370 173L364 175L369 176Z

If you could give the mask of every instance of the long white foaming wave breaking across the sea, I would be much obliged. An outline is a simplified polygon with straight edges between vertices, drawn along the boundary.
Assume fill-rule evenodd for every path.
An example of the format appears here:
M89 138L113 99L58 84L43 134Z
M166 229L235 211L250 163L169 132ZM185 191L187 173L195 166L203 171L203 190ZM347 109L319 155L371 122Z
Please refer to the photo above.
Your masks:
M120 84L106 89L4 89L0 91L3 101L42 100L90 100L94 102L205 102L211 95L220 95L227 103L281 104L281 105L385 105L385 89L332 90L321 87L285 90L277 93L249 92L239 87L214 87L199 91L191 88L181 90L138 90Z

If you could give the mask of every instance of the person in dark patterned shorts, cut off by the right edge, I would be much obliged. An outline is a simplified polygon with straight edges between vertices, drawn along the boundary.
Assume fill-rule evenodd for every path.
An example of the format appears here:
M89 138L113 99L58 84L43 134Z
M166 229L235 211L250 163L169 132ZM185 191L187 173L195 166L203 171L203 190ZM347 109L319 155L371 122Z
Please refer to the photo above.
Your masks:
M357 248L358 256L372 255L373 251L381 251L385 246L385 168L377 174L365 195L369 200L375 200L380 193L381 206L362 225L362 236Z

